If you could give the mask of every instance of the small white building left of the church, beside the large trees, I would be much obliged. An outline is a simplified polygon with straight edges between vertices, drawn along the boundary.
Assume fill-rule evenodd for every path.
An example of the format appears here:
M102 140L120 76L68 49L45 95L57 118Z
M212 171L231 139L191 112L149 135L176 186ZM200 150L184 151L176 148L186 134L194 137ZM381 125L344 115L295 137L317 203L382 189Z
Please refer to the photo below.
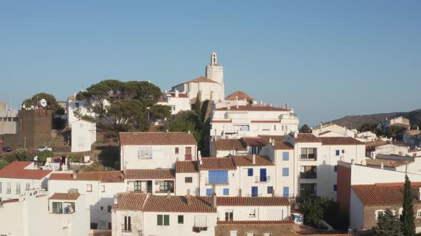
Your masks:
M187 95L178 92L178 90L175 90L174 92L164 92L163 97L157 104L170 106L171 114L191 110L190 99Z

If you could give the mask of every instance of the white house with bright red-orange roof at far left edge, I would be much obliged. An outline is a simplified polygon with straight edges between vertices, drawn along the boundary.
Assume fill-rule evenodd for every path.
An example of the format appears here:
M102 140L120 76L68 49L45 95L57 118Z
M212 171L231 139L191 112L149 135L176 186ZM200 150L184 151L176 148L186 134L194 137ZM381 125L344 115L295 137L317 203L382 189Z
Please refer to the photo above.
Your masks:
M38 170L32 161L14 161L0 170L1 200L16 199L27 191L47 189L51 171Z

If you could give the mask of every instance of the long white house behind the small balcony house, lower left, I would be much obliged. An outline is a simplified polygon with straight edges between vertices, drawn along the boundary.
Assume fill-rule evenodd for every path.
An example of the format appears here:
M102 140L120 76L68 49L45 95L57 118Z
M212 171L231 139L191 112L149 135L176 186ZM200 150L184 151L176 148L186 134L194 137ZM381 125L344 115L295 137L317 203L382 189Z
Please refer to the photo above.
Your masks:
M85 195L86 208L91 212L91 227L111 229L111 208L117 193L126 192L121 171L81 173L52 173L49 177L50 193L66 193L76 189Z

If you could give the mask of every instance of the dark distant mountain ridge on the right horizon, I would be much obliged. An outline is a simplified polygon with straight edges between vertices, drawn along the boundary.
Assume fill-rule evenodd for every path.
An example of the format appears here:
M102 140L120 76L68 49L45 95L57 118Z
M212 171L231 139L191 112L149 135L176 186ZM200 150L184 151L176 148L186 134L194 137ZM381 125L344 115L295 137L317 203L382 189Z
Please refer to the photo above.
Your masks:
M384 121L386 118L390 119L393 117L403 116L407 119L410 119L411 125L421 124L421 109L415 109L411 112L390 112L390 113L379 113L379 114L363 114L355 116L345 116L340 119L334 119L331 121L333 124L338 124L340 126L345 126L352 129L358 129L362 124L371 123L378 124Z

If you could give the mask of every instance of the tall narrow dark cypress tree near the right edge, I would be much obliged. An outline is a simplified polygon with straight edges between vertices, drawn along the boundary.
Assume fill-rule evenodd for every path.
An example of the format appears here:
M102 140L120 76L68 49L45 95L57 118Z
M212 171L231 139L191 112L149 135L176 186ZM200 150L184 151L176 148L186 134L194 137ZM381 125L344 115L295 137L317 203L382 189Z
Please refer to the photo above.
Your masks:
M400 221L402 222L402 229L405 236L417 235L415 233L415 215L414 205L412 203L411 181L407 175L405 175L402 216L400 218Z

